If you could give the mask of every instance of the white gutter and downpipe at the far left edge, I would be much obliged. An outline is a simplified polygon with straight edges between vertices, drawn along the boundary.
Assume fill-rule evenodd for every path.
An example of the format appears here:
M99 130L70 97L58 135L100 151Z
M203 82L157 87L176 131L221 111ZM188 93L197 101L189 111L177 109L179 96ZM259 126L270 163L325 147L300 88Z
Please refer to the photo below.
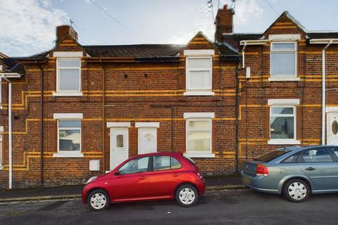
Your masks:
M12 82L8 78L20 78L21 75L16 72L3 72L0 73L0 76L8 82L8 189L12 188L12 177L13 177L13 168L12 168Z

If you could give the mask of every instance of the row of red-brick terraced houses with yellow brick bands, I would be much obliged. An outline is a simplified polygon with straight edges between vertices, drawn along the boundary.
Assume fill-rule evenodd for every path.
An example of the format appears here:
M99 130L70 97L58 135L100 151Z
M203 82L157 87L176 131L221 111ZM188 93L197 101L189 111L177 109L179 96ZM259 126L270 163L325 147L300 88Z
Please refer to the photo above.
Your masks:
M154 151L186 153L211 175L282 146L338 144L338 32L284 12L236 34L233 13L218 10L214 42L85 46L64 25L50 51L1 54L0 188L10 170L13 187L83 184Z

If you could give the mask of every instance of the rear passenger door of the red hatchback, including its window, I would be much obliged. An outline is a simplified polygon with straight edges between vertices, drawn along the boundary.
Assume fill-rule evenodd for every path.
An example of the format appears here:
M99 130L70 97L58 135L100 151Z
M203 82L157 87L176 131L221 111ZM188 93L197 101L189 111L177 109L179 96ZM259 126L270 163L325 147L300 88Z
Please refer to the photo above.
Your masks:
M172 197L175 188L180 184L182 165L173 157L155 155L153 171L150 173L149 192L154 197Z

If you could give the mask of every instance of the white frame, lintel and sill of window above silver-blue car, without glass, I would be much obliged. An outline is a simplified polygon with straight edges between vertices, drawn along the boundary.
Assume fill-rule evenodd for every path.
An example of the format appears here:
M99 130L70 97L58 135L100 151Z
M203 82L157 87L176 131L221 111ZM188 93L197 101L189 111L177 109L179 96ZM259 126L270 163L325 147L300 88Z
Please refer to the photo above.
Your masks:
M268 105L270 105L269 113L269 145L297 145L301 141L297 140L297 113L296 105L299 105L299 99L269 99ZM293 108L293 114L273 114L273 108ZM293 139L271 139L271 117L294 117L294 138Z

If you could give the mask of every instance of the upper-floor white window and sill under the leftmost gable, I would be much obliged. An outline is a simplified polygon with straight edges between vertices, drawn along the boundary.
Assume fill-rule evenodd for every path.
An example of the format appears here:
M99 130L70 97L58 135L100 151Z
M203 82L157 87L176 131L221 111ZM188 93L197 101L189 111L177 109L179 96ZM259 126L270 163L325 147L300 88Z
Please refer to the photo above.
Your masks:
M80 58L56 59L56 93L54 96L82 96Z

